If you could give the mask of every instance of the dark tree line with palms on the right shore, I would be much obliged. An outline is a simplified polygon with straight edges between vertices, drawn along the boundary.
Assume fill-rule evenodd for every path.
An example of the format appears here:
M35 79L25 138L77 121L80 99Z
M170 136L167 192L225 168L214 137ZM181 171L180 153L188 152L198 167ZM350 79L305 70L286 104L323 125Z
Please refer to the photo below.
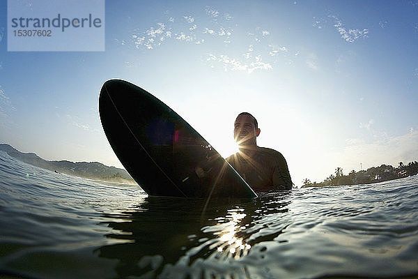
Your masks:
M398 167L392 167L392 165L381 165L380 167L370 167L369 169L360 170L359 172L352 170L347 175L343 174L343 169L341 167L337 167L334 174L331 174L320 183L311 182L309 179L304 179L302 181L302 187L368 184L400 179L415 174L418 174L417 161L410 162L408 165L404 165L403 162L399 162Z

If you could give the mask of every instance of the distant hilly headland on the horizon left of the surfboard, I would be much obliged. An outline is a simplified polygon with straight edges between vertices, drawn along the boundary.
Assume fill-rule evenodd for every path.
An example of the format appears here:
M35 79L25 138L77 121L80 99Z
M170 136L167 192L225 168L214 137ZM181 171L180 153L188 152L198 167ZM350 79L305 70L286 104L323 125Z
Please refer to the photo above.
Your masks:
M48 161L40 158L35 153L22 153L10 146L10 144L0 144L0 151L5 151L10 157L16 158L29 165L48 169L52 172L69 174L86 179L111 181L117 183L134 184L135 181L125 169L108 167L98 162L77 162L68 160Z

